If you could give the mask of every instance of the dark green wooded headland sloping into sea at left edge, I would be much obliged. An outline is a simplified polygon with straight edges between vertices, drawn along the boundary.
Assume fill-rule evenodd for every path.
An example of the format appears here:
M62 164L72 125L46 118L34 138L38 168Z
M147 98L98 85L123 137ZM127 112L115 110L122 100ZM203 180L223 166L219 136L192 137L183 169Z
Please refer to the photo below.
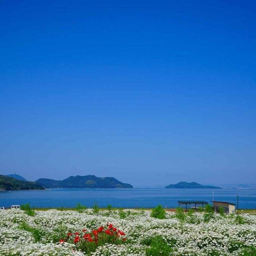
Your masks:
M13 177L0 175L0 190L28 190L28 189L44 189L42 185L31 181L20 181Z

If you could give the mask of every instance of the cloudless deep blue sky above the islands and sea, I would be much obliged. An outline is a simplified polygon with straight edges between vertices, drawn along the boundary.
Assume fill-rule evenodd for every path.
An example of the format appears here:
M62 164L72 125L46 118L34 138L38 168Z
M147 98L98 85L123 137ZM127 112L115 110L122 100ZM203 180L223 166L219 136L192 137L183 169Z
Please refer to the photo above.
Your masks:
M255 12L255 1L1 1L0 173L254 182Z

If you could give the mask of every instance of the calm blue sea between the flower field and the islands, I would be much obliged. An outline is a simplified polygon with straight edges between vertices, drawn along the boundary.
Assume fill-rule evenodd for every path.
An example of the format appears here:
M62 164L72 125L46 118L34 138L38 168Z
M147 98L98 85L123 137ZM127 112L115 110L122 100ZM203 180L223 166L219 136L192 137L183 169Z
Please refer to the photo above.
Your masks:
M48 190L1 191L0 207L13 204L30 204L32 207L75 207L82 204L92 207L96 202L100 207L178 207L177 200L215 201L237 204L239 209L256 209L256 189L104 189L104 188L53 188Z

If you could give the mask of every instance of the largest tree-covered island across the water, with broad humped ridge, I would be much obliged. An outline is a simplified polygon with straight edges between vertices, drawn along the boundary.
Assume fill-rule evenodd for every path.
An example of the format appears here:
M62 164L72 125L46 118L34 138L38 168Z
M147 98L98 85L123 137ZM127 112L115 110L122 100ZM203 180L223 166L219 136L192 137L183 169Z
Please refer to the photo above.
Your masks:
M63 181L38 179L37 183L45 188L133 188L132 185L118 181L113 177L96 177L94 175L70 176Z

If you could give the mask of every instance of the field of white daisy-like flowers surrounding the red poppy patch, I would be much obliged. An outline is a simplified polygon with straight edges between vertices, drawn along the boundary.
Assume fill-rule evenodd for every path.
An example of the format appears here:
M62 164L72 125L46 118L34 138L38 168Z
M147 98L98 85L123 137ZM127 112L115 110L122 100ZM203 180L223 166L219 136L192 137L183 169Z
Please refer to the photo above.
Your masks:
M67 234L91 232L112 223L124 242L98 246L104 255L256 255L256 216L177 215L153 218L150 210L0 211L0 255L88 255ZM108 224L107 224L108 223ZM107 225L107 226L106 226ZM96 231L95 231L96 232ZM60 242L63 240L62 242Z

